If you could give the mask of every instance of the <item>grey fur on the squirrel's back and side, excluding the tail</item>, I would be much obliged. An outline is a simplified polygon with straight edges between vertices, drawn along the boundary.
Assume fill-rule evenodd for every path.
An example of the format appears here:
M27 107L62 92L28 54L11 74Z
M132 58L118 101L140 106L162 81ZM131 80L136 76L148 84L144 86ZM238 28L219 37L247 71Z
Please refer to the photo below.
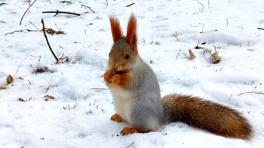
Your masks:
M131 124L140 131L156 131L162 124L163 108L160 86L153 70L138 56L135 81L129 88L136 94L131 111ZM138 86L136 86L138 85Z

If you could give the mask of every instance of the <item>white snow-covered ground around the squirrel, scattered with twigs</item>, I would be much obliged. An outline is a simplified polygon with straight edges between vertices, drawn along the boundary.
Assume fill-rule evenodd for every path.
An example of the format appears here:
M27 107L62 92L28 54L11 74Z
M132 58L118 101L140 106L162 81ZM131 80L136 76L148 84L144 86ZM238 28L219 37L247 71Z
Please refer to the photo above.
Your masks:
M9 87L0 90L0 147L263 147L264 95L238 94L264 92L264 30L257 29L264 28L264 1L210 0L210 7L207 0L199 2L204 8L196 0L108 0L108 5L42 0L19 26L29 1L0 0L6 3L0 6L0 72L14 79L7 84L0 73L0 86ZM81 15L41 13L55 10ZM102 75L113 44L108 16L115 14L125 32L131 12L138 19L139 54L157 74L162 95L193 94L244 112L254 126L252 140L216 136L181 122L120 135L128 125L110 120L111 93L93 88L106 88ZM69 63L53 64L43 33L27 31L37 30L30 22L42 29L41 18L45 27L67 33L47 36L57 57L71 57ZM221 47L221 62L211 64L210 54L194 49L198 41L209 49ZM188 49L196 56L192 61L184 55ZM33 72L45 66L46 72Z

